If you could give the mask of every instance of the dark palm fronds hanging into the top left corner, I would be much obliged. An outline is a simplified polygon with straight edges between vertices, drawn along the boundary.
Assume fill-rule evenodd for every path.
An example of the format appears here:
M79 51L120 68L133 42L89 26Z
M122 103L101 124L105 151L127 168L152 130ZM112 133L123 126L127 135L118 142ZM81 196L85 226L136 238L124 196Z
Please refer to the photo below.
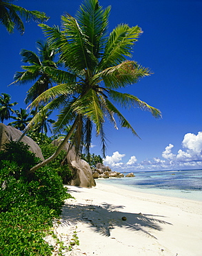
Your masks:
M44 12L39 12L37 10L26 10L20 6L15 6L10 3L14 0L0 0L0 22L6 29L8 33L13 33L14 27L19 30L21 34L25 32L23 21L21 18L30 21L47 21L49 17L46 16Z

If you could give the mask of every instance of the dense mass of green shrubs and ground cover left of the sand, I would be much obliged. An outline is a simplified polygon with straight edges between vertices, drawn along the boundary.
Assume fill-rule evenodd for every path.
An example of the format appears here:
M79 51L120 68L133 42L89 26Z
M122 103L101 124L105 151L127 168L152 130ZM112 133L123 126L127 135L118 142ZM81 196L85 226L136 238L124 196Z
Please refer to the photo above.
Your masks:
M11 143L8 148L12 157L0 152L0 255L52 255L53 248L43 237L70 194L54 168L26 172L26 161L38 161L27 146Z

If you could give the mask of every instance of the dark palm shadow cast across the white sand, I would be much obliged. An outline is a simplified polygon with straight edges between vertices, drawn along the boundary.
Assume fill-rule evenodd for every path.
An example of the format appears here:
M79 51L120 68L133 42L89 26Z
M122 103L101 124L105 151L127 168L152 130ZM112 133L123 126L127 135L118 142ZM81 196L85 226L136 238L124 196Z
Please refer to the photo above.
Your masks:
M90 203L90 200L86 200ZM143 232L144 235L154 237L150 234L152 230L162 230L160 224L169 224L167 221L162 221L163 216L122 212L123 205L110 205L103 203L102 205L92 204L65 204L61 217L61 226L77 225L79 222L88 223L94 232L100 235L110 237L110 230L113 228L128 228L135 232ZM123 221L122 217L126 220ZM158 219L161 217L161 219ZM156 238L156 237L154 237Z

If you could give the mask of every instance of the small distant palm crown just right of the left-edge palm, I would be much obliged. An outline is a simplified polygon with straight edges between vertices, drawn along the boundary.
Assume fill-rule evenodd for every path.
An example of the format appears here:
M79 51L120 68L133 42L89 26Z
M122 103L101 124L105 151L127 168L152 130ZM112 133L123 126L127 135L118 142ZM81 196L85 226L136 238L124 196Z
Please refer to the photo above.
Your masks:
M20 109L14 111L14 113L17 116L11 116L12 119L14 119L14 122L10 122L8 125L11 125L21 131L23 131L23 129L26 128L26 126L28 125L28 123L30 122L30 120L32 118L29 118L29 114L27 113L26 109Z

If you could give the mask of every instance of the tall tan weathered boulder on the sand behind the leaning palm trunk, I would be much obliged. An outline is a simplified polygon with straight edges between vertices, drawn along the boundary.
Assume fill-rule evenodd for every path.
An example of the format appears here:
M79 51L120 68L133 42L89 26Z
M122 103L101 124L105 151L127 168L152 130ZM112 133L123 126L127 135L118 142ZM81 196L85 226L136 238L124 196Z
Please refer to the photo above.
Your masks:
M58 146L61 140L53 140L52 144ZM90 165L85 162L83 159L77 156L74 147L69 150L69 144L67 143L63 148L66 152L68 152L66 156L66 160L68 162L68 166L70 170L72 170L73 178L70 185L75 185L83 188L92 188L96 185L93 176L92 170L90 169Z

